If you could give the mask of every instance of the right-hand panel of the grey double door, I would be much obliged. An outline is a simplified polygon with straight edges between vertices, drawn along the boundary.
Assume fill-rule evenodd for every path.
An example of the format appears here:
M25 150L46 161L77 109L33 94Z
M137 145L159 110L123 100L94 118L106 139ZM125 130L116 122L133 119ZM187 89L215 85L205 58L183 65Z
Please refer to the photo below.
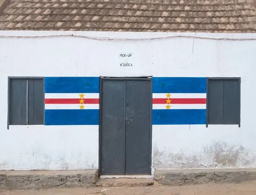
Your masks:
M150 80L126 81L126 174L150 174Z

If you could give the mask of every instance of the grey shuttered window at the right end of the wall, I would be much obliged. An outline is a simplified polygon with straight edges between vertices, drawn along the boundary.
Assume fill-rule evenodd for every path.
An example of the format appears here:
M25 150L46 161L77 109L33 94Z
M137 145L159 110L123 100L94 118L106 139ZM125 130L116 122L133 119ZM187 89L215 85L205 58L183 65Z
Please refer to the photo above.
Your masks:
M240 78L208 78L207 124L240 127Z

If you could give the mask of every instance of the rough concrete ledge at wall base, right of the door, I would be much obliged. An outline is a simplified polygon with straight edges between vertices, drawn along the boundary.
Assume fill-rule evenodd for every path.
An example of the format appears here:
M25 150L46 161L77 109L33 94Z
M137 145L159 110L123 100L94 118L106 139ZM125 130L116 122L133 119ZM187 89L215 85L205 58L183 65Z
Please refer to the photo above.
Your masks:
M256 180L256 169L155 170L154 179L163 185L239 183Z

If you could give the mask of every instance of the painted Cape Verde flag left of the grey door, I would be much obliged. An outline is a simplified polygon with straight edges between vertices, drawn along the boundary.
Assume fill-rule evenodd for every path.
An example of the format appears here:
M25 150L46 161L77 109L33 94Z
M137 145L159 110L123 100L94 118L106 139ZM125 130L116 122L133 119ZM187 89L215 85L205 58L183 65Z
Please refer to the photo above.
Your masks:
M46 77L45 125L98 125L98 77Z

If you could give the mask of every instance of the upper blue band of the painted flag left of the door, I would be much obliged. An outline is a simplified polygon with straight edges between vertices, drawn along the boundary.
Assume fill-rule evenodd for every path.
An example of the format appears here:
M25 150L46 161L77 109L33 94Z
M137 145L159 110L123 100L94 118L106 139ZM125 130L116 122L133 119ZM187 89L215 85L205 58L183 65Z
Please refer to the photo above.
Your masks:
M45 93L98 93L99 77L45 77Z

